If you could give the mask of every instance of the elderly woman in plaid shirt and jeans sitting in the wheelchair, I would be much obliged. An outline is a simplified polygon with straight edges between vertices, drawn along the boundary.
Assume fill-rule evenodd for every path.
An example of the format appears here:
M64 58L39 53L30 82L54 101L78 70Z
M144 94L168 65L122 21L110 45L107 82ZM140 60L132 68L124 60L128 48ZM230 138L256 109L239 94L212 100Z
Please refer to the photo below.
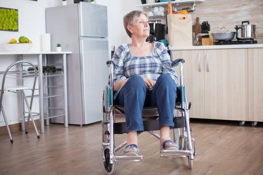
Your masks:
M130 44L121 44L113 54L114 103L124 105L128 132L124 155L138 155L137 131L143 131L143 106L157 106L160 149L178 149L171 141L170 127L176 98L177 75L161 42L146 42L150 27L148 15L131 11L123 18Z

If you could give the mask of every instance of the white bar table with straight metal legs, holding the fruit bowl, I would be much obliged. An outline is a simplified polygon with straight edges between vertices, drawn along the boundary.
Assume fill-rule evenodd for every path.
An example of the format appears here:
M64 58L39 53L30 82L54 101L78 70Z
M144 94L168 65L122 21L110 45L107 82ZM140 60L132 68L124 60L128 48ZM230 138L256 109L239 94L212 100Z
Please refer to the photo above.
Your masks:
M40 133L45 133L45 119L44 118L44 94L43 94L43 55L61 54L63 56L63 71L64 71L64 126L68 127L68 95L67 95L67 54L71 51L50 51L50 52L0 52L0 55L38 55L39 67L39 113L40 113ZM24 124L24 125L23 125ZM22 122L22 130L25 129L25 123Z

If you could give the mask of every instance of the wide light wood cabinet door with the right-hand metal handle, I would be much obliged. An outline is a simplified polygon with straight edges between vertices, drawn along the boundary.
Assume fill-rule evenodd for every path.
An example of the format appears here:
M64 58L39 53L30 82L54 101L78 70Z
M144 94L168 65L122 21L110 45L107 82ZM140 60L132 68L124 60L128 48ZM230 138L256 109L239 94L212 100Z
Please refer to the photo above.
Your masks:
M204 50L205 118L247 120L247 49Z

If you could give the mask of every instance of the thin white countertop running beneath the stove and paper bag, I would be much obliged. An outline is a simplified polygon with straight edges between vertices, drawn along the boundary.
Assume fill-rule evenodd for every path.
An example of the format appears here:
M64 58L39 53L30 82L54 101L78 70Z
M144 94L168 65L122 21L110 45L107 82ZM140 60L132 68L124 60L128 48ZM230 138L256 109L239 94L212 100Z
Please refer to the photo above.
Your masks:
M199 50L199 49L225 49L225 48L263 48L263 44L172 46L172 50Z

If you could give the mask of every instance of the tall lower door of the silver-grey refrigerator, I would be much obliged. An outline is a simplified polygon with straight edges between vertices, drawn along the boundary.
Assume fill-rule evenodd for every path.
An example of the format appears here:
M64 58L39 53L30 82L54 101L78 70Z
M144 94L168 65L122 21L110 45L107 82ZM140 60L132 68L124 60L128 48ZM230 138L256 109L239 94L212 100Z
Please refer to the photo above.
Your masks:
M101 94L108 83L108 39L80 37L83 124L101 120Z

